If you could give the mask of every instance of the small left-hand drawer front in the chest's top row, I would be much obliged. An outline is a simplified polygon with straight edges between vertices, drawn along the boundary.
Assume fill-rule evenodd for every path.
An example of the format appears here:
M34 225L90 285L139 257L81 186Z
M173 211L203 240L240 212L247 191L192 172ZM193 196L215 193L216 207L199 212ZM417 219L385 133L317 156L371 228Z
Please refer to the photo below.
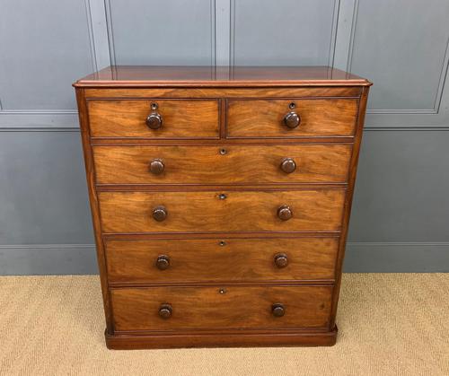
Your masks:
M153 103L157 109L151 109ZM218 101L88 101L93 137L218 138ZM162 118L153 129L146 119L150 114ZM158 127L155 121L151 127Z

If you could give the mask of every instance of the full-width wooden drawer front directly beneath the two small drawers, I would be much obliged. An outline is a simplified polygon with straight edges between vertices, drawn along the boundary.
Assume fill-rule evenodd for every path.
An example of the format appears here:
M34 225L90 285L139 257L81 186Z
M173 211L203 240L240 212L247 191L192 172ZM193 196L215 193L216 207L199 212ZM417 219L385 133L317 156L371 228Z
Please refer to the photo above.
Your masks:
M351 148L351 144L95 146L93 153L100 184L344 183Z

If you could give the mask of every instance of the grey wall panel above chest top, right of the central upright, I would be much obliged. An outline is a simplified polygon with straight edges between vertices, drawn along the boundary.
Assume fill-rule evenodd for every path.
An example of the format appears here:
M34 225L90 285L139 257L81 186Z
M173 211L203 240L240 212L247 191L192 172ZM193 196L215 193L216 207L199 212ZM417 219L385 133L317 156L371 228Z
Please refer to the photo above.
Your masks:
M338 4L334 0L233 0L233 65L332 65Z

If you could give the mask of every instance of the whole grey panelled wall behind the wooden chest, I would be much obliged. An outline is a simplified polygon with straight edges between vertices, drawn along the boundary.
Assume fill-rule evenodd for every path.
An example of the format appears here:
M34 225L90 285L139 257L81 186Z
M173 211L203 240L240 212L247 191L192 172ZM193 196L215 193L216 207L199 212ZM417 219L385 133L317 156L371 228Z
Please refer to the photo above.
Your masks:
M446 0L2 0L0 274L96 272L71 83L111 63L370 78L346 270L449 271L448 23Z

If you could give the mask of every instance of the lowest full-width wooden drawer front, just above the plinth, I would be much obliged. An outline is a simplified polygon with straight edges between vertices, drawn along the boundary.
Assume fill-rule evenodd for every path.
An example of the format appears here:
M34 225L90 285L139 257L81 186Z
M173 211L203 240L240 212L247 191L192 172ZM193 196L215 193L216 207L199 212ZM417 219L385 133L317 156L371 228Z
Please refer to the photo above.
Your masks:
M149 287L112 289L110 296L117 331L327 328L331 291L331 286ZM273 315L273 304L283 305L284 316Z

